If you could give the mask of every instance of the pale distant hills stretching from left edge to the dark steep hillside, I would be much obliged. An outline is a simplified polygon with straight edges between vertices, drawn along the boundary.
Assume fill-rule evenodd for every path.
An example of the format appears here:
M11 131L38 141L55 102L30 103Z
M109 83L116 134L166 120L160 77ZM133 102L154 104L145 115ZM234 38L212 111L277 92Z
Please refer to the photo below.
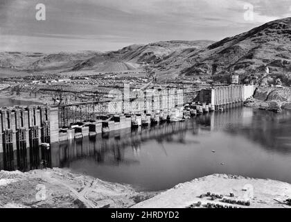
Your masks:
M0 53L0 68L17 71L80 71L98 72L138 70L146 62L157 66L173 56L186 51L191 53L204 49L211 41L168 41L147 45L134 44L118 51L101 53L82 51L78 53ZM182 56L183 58L184 56Z

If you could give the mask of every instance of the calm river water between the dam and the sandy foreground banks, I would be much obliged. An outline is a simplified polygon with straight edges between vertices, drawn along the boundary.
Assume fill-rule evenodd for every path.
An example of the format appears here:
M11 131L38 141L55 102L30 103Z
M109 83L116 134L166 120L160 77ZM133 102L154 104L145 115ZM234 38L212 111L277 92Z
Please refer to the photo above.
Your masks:
M251 108L54 144L52 167L143 191L213 173L291 183L291 113Z

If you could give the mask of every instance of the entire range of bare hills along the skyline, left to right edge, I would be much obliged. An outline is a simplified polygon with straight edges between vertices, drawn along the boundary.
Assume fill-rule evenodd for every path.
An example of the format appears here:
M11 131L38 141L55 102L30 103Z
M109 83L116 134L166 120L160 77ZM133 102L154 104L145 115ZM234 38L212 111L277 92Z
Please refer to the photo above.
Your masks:
M158 76L209 78L229 74L291 75L291 18L279 19L219 42L163 41L109 52L0 53L0 68L21 71L138 71L144 63Z

